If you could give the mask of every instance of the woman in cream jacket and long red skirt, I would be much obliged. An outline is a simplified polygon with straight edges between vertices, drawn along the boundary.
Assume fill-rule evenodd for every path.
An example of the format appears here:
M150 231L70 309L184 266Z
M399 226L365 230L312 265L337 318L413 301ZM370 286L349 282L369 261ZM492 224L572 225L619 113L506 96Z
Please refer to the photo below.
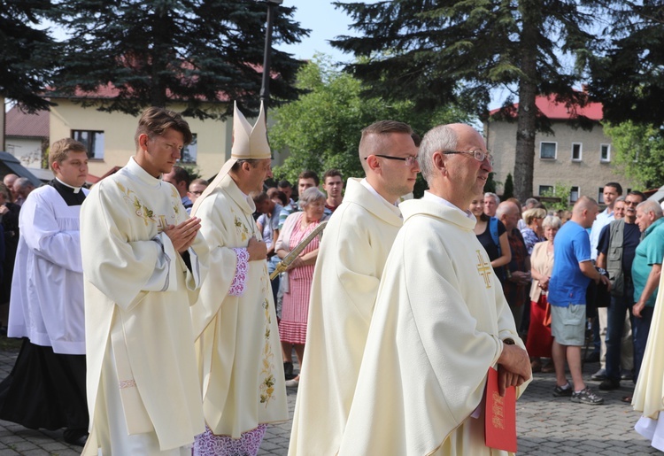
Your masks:
M549 279L553 271L553 238L562 222L559 217L549 215L542 222L546 241L536 243L530 256L530 273L533 282L530 287L530 326L526 349L531 357L533 372L553 372L552 366L542 367L540 357L551 358L553 338L551 336L551 311L546 299Z

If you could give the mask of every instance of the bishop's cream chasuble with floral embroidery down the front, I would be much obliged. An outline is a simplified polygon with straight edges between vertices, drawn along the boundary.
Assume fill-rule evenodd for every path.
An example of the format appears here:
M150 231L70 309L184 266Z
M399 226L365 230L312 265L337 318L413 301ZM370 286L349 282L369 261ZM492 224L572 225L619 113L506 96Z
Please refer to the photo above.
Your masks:
M210 274L191 314L205 424L217 436L239 438L289 418L267 262L246 256L251 236L261 239L254 211L251 197L226 175L196 213Z

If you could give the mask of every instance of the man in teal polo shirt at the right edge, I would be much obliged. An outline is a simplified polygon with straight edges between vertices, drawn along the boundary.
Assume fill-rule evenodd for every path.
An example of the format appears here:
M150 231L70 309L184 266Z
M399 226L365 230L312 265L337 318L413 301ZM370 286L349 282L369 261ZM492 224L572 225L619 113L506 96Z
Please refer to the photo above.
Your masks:
M632 263L634 282L634 382L644 359L645 344L655 308L660 283L661 261L664 257L664 219L659 204L651 199L637 205L637 225L644 238L638 244Z

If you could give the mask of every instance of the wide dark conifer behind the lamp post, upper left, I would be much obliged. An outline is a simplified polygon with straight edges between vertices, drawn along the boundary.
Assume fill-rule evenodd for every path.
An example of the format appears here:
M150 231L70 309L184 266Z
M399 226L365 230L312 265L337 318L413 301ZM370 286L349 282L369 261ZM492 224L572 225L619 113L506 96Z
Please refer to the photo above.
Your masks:
M298 43L308 35L292 19L295 8L274 15L274 44ZM111 83L117 95L98 109L130 114L145 106L187 104L184 115L225 117L206 112L205 102L238 100L249 115L257 112L260 67L265 43L266 4L235 0L61 0L53 18L66 27L63 57L55 76L60 96L94 92ZM293 87L301 65L273 49L270 83L274 104L297 97Z

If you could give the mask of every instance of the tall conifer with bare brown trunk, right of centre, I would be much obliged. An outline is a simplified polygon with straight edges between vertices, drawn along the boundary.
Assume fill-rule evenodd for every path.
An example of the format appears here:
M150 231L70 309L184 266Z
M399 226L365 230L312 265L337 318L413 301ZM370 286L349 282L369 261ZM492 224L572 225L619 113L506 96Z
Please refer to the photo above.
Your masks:
M506 87L502 115L517 121L514 189L532 194L535 135L548 123L539 115L538 94L555 94L574 110L586 100L572 90L576 67L584 62L595 19L581 4L595 0L394 0L376 4L335 3L351 15L361 35L342 36L333 45L367 60L349 66L366 81L371 95L413 100L433 107L457 100L486 114L490 90ZM387 53L378 53L390 50ZM511 109L510 109L511 108ZM516 112L514 112L516 111ZM575 117L579 125L586 119Z

